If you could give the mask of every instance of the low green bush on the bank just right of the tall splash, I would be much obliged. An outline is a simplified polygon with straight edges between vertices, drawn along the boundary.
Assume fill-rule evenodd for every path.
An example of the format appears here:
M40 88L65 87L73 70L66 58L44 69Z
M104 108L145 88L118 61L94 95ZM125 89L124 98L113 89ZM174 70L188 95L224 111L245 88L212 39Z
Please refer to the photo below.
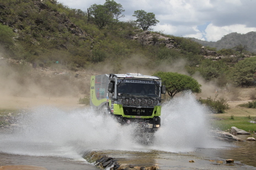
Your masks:
M217 95L215 96L215 99L216 97ZM224 98L219 98L219 100L215 99L211 99L211 97L207 99L199 98L198 101L201 104L209 106L214 111L214 114L223 114L225 110L228 109L227 100Z

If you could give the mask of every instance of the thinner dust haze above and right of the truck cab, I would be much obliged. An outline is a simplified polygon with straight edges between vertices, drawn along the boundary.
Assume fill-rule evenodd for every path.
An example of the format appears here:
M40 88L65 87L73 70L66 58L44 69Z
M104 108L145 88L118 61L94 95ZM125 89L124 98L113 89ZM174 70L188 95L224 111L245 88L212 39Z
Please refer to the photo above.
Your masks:
M156 71L177 72L184 75L189 75L186 71L187 60L179 59L175 63L162 62L155 64L149 58L142 54L134 54L121 61L115 59L105 61L104 63L94 65L95 75L104 73L142 73L143 75L152 75ZM226 84L225 87L218 87L216 80L205 81L203 77L196 72L193 78L201 84L201 93L196 94L197 98L225 98L227 100L240 100L239 90L232 87L231 84ZM180 94L177 94L180 95Z

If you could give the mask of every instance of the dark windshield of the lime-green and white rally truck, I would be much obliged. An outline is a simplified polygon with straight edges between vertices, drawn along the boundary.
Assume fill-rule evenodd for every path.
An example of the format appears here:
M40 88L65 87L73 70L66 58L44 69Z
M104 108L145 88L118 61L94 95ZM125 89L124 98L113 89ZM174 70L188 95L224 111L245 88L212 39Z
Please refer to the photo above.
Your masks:
M157 98L159 97L159 82L126 79L123 81L118 80L117 93L121 96L142 95L143 97Z

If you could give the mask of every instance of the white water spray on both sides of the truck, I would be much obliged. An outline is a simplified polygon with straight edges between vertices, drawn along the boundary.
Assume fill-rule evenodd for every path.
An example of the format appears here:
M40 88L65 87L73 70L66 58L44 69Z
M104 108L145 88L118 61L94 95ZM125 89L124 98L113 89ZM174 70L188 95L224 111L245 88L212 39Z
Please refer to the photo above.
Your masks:
M0 152L75 159L90 150L187 152L213 147L207 120L205 108L185 94L162 107L161 129L152 145L143 145L134 140L134 127L89 108L70 112L41 106L23 113L19 131L0 136Z

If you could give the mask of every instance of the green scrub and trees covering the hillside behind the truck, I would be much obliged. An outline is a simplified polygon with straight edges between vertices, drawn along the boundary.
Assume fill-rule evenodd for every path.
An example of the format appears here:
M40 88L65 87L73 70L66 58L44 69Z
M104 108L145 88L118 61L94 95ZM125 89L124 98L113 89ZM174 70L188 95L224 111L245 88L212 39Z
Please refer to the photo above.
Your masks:
M159 22L154 13L135 9L137 20L119 21L125 17L122 15L125 9L115 1L91 4L88 12L70 9L56 0L1 0L0 9L0 44L6 50L4 56L24 63L50 67L57 62L73 71L98 67L102 72L115 73L127 68L151 73L173 71L177 63L182 63L174 72L182 70L188 76L199 75L221 87L227 83L241 86L252 81L256 72L255 65L248 64L255 57L244 59L246 44L243 48L217 51L237 57L216 60L205 58L201 45L188 38L148 31L152 37L146 39L144 30ZM151 24L145 25L146 19ZM149 40L151 43L146 43ZM172 42L172 48L166 47L167 41Z

